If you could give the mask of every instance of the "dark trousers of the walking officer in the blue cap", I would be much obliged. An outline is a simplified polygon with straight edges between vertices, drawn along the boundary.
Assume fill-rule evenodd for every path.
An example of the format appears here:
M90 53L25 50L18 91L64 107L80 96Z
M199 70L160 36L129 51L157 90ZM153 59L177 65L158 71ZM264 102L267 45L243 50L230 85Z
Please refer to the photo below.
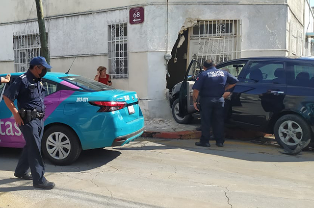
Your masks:
M15 174L24 175L30 168L33 177L33 184L42 184L46 182L44 177L45 166L41 157L41 139L44 133L44 120L33 119L29 122L24 121L20 126L26 145L22 151L19 163L16 166Z

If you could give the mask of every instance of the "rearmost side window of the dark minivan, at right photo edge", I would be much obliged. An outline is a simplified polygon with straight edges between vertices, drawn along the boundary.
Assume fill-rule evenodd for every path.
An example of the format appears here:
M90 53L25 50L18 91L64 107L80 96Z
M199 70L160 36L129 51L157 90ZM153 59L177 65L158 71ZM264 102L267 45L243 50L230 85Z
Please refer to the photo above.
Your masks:
M287 63L288 85L314 88L314 65L309 63Z

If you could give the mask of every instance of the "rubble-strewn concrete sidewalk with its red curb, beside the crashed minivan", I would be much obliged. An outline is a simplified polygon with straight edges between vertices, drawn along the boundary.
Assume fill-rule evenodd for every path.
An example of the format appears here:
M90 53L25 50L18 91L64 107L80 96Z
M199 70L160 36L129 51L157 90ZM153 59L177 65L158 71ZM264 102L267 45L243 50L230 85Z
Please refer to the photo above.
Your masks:
M191 124L179 124L174 119L164 120L155 118L145 121L145 131L142 137L162 139L199 139L201 132L195 128L201 126L201 119L194 118ZM226 128L225 137L228 139L255 139L265 136L263 133L241 130L238 128ZM266 135L269 137L270 135Z

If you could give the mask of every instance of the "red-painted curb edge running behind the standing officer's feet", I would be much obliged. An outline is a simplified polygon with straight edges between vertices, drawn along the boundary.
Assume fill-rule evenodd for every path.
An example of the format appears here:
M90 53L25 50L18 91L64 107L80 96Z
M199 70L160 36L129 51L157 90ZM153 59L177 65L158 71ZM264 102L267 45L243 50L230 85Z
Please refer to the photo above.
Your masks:
M200 139L202 132L200 131L179 131L179 132L154 132L144 131L141 137L159 138L159 139ZM271 136L262 132L243 131L236 129L226 129L225 138L228 139L256 139Z

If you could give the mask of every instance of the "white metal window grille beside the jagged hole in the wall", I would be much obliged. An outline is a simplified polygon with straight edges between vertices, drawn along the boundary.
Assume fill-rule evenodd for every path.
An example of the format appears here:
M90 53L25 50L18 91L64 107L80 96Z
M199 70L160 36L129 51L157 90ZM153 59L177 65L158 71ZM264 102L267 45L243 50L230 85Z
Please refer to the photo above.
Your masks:
M192 38L199 39L197 60L211 59L215 64L241 57L241 21L199 21Z

